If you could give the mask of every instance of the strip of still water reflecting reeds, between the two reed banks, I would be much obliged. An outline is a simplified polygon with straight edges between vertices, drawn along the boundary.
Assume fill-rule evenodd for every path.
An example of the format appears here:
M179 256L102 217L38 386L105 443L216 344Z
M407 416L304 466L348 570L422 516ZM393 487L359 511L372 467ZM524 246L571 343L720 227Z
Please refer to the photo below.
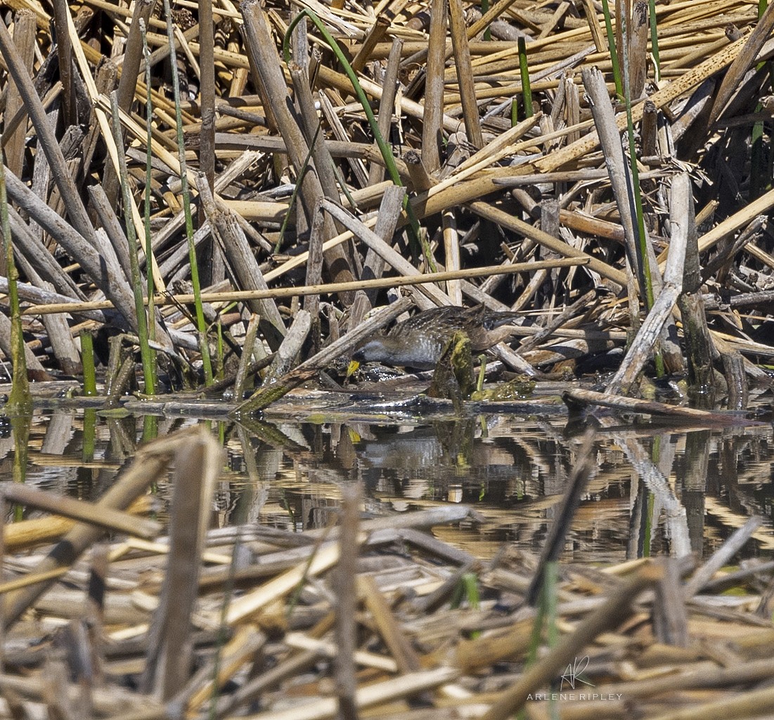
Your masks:
M0 439L0 480L96 500L144 439L197 420L101 417L93 410L36 413ZM308 530L335 523L341 487L360 481L366 516L452 503L474 519L437 528L443 540L493 557L505 543L539 553L567 485L581 434L567 417L478 416L405 423L207 421L224 444L211 524ZM27 434L28 437L21 437ZM594 470L563 560L617 562L646 555L710 555L751 515L764 519L745 557L769 557L774 431L769 424L713 430L601 427ZM16 473L16 475L14 475ZM164 519L168 484L153 489ZM24 517L35 516L24 510ZM13 515L9 511L8 519Z

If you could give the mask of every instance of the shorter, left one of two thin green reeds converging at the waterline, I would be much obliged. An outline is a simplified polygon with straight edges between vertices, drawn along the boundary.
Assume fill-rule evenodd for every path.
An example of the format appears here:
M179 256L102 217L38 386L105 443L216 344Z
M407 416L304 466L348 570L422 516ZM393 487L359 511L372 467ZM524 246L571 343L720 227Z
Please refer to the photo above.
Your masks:
M132 273L132 292L135 296L135 314L137 315L137 334L140 341L142 374L145 379L145 392L148 395L152 395L155 393L153 378L156 372L153 369L154 358L148 342L148 319L146 317L145 297L142 294L142 280L140 279L140 266L137 257L137 235L135 234L135 224L132 220L132 193L129 190L129 175L128 170L126 170L121 118L118 117L118 95L115 90L110 94L110 106L113 139L118 150L118 178L121 181L121 191L124 200L126 238L129 242L129 271Z

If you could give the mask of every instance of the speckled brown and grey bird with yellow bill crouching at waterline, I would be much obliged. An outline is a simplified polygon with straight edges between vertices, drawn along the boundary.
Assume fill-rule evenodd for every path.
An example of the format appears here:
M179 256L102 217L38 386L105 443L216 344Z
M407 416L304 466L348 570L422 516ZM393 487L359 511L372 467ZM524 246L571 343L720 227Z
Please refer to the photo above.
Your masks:
M358 362L386 362L418 370L433 369L454 333L464 331L471 351L483 352L506 340L520 313L495 312L476 307L432 307L398 323L386 334L365 341L352 358Z

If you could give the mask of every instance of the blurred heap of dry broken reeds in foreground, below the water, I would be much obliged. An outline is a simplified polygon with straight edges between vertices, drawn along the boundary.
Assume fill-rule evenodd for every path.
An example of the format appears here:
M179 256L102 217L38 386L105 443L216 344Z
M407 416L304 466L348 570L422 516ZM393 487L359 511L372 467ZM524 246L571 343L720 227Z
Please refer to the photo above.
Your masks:
M361 519L357 485L337 526L213 528L222 465L199 426L139 447L94 503L0 485L57 513L2 529L0 717L771 714L772 563L728 567L759 518L704 562L557 563L567 492L541 557L483 561L444 541L467 506ZM172 488L166 525L150 485Z

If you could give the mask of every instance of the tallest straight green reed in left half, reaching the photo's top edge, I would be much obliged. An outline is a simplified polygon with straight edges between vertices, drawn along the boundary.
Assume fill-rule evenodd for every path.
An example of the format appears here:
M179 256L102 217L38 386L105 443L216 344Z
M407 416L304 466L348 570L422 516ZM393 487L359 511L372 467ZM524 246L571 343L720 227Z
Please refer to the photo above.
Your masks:
M199 348L201 362L204 368L204 383L212 384L212 363L210 347L207 345L207 321L204 320L204 307L201 303L201 285L199 283L199 266L194 245L194 218L191 217L190 190L188 189L188 171L186 167L186 149L183 139L183 115L180 110L180 78L177 77L177 53L175 50L175 33L172 26L170 0L164 0L166 13L166 37L170 43L170 64L172 65L172 87L175 96L175 120L177 129L177 151L180 160L180 184L183 194L183 212L186 218L186 238L188 241L188 259L191 267L191 284L194 286L194 308L196 310L197 330L199 331Z

